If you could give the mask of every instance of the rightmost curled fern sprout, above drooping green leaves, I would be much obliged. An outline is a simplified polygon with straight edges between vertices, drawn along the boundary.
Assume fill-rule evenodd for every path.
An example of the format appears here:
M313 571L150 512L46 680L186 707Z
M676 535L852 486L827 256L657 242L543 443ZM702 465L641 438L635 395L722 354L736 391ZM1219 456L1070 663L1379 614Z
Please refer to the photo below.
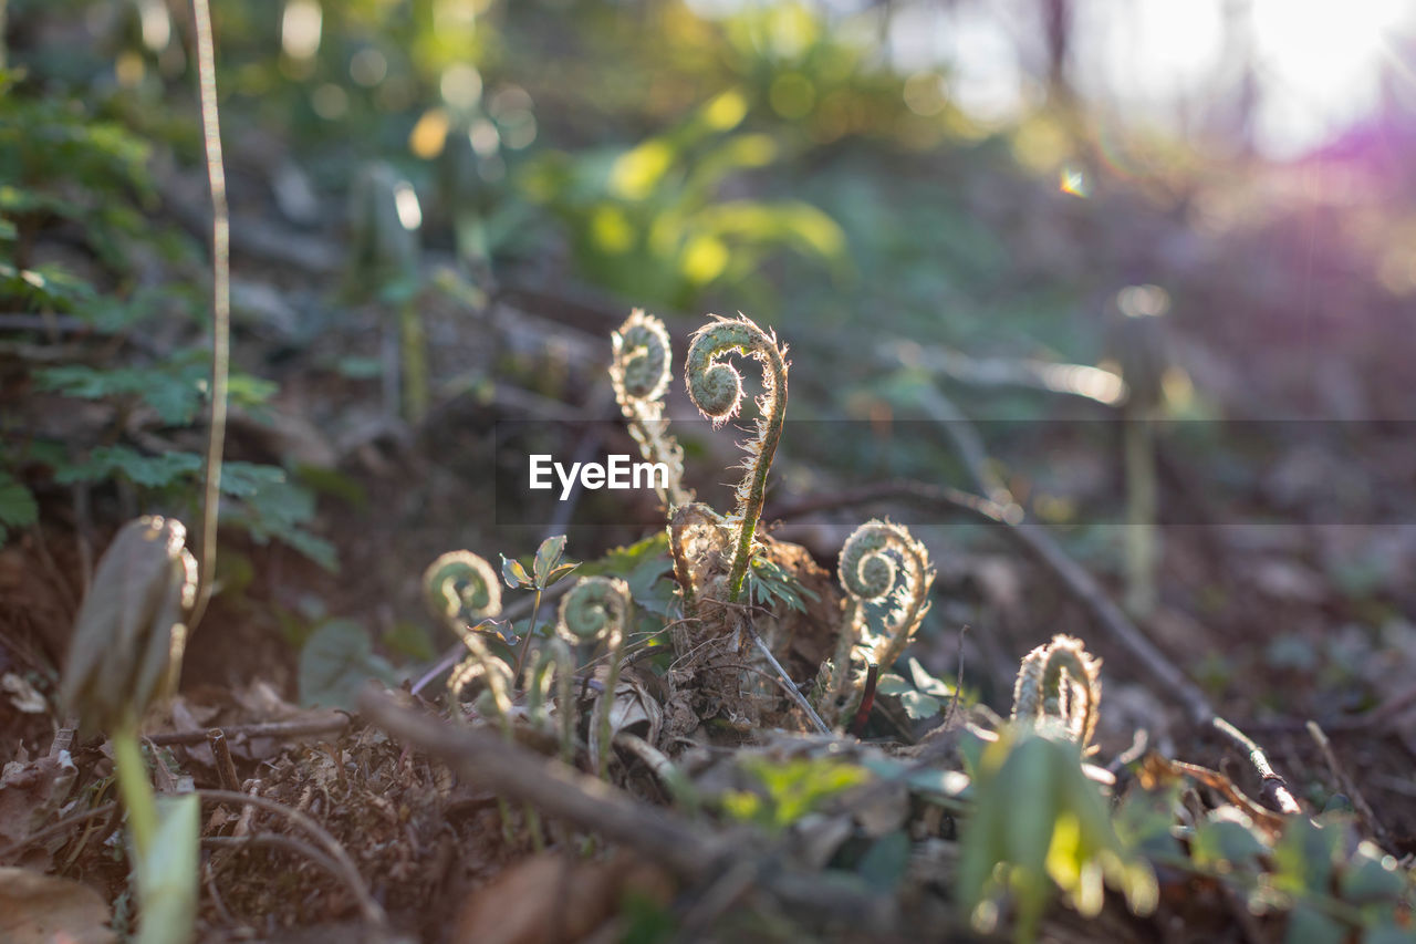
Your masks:
M1102 703L1102 661L1073 636L1056 635L1022 659L1012 687L1012 720L1054 723L1085 751Z

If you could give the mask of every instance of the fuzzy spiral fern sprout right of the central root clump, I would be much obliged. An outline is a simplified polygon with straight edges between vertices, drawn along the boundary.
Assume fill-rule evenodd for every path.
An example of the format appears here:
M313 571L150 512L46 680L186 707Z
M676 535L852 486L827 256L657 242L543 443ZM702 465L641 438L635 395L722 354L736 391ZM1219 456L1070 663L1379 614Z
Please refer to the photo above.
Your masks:
M851 645L865 636L865 605L886 607L885 625L867 636L872 639L872 661L884 672L910 644L929 612L929 588L935 583L929 551L903 524L872 519L841 546L840 577L850 597L844 634L852 636ZM835 672L847 670L850 661L841 655L837 653Z

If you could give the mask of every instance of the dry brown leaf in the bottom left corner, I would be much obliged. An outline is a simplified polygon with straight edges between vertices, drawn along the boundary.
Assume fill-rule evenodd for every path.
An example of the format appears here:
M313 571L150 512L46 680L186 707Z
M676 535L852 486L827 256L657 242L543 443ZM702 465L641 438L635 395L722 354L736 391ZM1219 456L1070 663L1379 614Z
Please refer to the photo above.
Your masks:
M109 944L108 903L98 892L52 875L0 867L0 941Z

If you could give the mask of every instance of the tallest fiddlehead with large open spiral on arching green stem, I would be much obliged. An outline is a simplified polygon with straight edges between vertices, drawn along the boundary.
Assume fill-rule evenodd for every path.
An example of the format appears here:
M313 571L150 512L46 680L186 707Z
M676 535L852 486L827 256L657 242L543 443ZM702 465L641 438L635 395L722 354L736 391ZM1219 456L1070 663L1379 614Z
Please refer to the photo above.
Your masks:
M742 444L748 454L745 471L738 485L736 506L728 523L738 529L728 571L728 598L736 602L748 575L752 541L762 516L767 492L767 471L782 439L782 424L787 412L786 347L777 344L776 335L758 327L739 313L735 319L712 316L714 320L694 332L684 364L688 395L715 427L738 415L742 408L742 374L722 360L738 353L762 363L762 395L758 398L756 435Z

